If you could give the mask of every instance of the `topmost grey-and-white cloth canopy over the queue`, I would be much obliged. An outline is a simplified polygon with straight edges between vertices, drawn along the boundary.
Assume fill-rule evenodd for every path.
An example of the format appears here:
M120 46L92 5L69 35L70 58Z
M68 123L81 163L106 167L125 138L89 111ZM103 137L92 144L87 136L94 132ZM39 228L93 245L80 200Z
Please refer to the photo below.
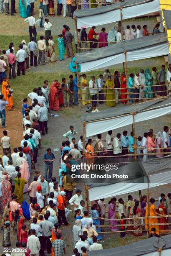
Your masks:
M99 8L77 10L73 15L78 28L88 28L121 20L121 13L122 20L125 20L160 10L159 0L126 0Z

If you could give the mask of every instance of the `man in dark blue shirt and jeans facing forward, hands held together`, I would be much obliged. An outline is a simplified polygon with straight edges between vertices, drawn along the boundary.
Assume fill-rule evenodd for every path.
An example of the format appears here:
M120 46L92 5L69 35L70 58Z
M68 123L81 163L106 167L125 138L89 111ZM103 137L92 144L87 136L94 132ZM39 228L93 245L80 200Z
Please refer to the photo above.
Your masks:
M51 152L50 148L48 148L47 153L45 152L45 154L43 155L43 160L45 162L45 180L51 181L53 174L53 161L55 160L55 156Z

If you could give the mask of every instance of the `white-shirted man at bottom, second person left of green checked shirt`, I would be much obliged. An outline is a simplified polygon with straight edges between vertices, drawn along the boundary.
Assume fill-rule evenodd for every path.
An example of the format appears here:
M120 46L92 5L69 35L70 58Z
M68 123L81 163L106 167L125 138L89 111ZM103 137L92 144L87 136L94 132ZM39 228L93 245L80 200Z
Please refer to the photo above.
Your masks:
M39 238L35 236L35 229L31 230L31 236L28 237L27 248L31 250L31 255L39 256L40 241Z

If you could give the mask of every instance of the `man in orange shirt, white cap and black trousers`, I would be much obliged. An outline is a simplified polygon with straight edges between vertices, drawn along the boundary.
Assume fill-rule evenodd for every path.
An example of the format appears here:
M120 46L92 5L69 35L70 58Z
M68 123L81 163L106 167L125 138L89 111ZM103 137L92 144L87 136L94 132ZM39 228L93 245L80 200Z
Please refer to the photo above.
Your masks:
M64 225L68 225L69 223L66 220L65 216L65 205L63 201L63 197L66 195L65 191L61 191L60 195L58 195L58 222L61 225L64 223ZM62 218L62 220L61 220Z

